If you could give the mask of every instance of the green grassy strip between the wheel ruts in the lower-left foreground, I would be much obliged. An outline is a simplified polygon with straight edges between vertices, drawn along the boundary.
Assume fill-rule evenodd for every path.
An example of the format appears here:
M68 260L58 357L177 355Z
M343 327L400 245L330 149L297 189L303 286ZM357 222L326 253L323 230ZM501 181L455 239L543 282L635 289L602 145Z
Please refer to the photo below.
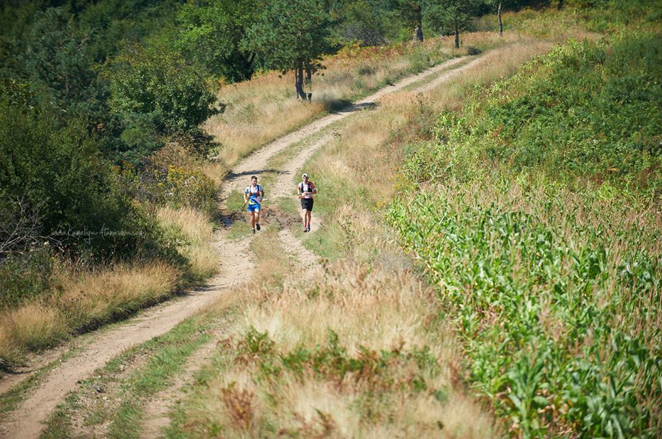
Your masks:
M140 437L146 401L172 384L187 358L210 340L210 332L219 328L221 320L227 324L231 314L231 306L219 302L168 334L113 358L67 396L50 417L42 437L101 432L110 438Z

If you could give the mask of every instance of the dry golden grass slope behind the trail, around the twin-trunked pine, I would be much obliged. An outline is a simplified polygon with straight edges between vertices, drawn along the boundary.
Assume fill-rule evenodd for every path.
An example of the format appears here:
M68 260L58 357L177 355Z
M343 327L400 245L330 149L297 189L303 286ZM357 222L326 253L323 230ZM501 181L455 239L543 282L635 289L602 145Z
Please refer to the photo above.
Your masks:
M223 144L219 158L232 167L262 144L324 114L343 100L354 100L462 53L455 52L448 39L428 39L420 45L348 48L326 59L326 69L314 75L312 102L302 104L295 98L293 74L267 72L222 87L219 100L228 107L204 127Z

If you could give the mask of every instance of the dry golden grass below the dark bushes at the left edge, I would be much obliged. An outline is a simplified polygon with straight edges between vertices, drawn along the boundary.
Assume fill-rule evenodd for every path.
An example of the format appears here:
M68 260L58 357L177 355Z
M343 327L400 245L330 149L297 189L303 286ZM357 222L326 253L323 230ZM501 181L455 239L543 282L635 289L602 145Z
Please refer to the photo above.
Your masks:
M60 266L56 277L57 292L50 297L0 312L0 358L8 363L172 295L179 273L157 262L84 273Z

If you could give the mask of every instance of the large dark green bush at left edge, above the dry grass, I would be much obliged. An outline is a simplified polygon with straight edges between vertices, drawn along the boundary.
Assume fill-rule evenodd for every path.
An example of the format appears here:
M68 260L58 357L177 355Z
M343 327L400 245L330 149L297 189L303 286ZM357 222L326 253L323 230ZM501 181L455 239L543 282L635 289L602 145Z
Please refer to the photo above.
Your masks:
M0 203L21 200L38 215L37 235L69 251L113 257L148 239L148 220L120 194L83 122L60 128L0 97L0 167Z

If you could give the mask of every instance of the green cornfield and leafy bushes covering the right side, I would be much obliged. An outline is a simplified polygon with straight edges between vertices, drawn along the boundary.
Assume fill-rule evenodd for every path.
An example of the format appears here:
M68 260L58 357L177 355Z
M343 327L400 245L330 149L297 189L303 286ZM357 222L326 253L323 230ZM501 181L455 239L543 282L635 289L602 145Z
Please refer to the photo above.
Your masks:
M662 38L570 42L442 114L390 219L525 437L659 437Z

